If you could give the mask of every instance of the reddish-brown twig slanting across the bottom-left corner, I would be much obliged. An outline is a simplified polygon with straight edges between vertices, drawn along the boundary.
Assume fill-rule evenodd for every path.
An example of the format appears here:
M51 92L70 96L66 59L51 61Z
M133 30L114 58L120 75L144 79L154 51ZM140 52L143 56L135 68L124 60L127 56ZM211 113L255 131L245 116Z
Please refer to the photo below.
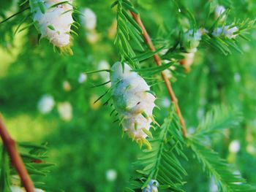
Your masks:
M10 155L10 160L12 162L12 166L15 167L18 174L20 175L21 183L23 183L24 188L27 192L34 192L34 185L32 183L31 178L29 177L29 173L26 170L26 167L20 157L15 141L10 137L10 134L7 131L7 128L4 126L4 122L1 118L0 113L0 137L3 140L4 147L6 147L7 152Z

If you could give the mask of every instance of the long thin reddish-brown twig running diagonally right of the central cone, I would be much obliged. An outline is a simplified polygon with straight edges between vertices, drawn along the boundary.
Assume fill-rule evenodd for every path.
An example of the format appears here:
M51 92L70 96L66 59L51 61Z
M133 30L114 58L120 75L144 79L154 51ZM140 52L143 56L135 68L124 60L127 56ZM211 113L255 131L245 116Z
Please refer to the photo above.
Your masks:
M148 32L146 31L145 26L143 25L143 22L140 20L140 16L135 14L134 12L131 12L131 13L132 13L132 17L135 19L135 21L138 23L138 25L140 26L140 28L143 31L143 37L145 39L146 44L148 45L149 49L154 52L156 49L151 41L151 38L148 35ZM157 64L157 66L162 65L161 59L157 53L154 54L154 61ZM185 124L184 118L182 117L181 110L178 107L178 99L176 98L176 95L173 91L172 86L170 85L170 81L168 80L168 78L165 76L165 74L163 72L161 74L162 74L162 79L165 81L165 85L166 85L167 91L170 95L170 99L171 99L171 101L173 101L176 113L178 115L179 122L181 123L182 134L184 137L187 137L186 124Z

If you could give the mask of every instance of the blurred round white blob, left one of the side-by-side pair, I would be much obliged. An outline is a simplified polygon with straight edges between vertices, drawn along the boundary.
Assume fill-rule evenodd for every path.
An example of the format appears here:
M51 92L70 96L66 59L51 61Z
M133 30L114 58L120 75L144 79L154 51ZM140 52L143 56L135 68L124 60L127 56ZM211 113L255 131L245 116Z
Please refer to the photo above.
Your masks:
M43 95L39 100L37 107L39 112L41 112L42 114L47 114L48 112L53 110L54 104L55 101L53 99L53 96Z

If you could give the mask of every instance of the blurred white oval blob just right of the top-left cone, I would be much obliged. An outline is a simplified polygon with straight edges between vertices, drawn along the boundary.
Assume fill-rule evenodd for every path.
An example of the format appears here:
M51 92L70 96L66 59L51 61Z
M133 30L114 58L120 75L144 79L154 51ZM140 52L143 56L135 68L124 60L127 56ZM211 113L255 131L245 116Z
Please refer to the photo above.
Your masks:
M94 30L97 25L97 16L95 13L91 9L86 8L82 10L82 14L80 19L84 28L89 31Z

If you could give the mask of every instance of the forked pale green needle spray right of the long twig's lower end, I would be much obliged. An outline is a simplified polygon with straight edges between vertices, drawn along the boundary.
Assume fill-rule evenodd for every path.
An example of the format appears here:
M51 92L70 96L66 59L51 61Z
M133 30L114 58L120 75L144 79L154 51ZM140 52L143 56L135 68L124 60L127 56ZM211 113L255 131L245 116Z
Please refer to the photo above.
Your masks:
M219 191L255 191L251 185L248 185L240 172L233 169L232 166L220 158L218 153L206 146L207 137L217 136L219 131L225 128L238 126L241 121L236 112L227 109L214 108L208 112L206 118L198 126L195 134L188 139L188 145L195 153L197 160L203 165L203 170L209 176L214 177Z

